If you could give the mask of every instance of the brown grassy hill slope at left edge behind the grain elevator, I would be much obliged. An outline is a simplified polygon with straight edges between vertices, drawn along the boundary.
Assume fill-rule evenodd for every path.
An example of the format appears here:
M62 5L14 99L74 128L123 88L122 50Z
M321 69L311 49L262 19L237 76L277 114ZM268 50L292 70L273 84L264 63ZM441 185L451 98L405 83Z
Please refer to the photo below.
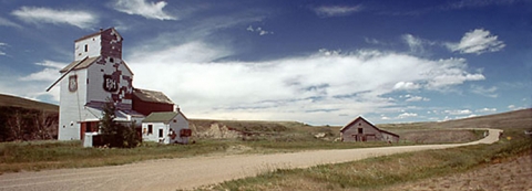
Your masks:
M27 109L59 113L58 105L41 103L37 100L31 100L31 99L4 95L4 94L0 94L0 106L22 107Z

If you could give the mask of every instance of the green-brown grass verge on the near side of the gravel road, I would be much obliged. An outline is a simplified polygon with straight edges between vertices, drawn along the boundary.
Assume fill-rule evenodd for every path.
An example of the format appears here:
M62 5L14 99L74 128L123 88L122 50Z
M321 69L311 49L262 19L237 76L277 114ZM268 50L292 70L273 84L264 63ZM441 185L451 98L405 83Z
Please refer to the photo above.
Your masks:
M492 145L398 153L308 169L272 169L272 172L257 177L198 190L380 190L401 182L463 172L531 152L532 138L522 130L505 129L504 137Z

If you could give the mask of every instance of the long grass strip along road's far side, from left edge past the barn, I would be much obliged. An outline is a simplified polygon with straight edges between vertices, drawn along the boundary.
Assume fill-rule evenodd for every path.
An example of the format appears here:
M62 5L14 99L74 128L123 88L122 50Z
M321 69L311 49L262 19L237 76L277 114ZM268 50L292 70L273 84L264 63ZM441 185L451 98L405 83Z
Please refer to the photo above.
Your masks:
M194 156L295 152L315 149L350 149L390 146L385 142L332 142L314 138L288 137L256 140L201 140L191 145L160 145L143 142L131 149L83 148L81 141L27 141L0 144L0 174L6 172L39 171L60 168L119 166L153 159ZM401 144L402 146L405 144ZM234 150L234 148L246 148ZM232 150L233 149L233 150ZM231 151L229 151L231 150Z

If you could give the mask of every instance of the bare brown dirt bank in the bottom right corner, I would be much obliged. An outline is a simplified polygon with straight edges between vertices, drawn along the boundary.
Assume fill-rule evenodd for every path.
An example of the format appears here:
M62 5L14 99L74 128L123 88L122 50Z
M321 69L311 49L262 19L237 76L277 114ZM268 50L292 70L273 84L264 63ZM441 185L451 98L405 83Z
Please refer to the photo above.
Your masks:
M483 168L449 177L409 182L386 190L409 191L532 191L532 155L493 161Z

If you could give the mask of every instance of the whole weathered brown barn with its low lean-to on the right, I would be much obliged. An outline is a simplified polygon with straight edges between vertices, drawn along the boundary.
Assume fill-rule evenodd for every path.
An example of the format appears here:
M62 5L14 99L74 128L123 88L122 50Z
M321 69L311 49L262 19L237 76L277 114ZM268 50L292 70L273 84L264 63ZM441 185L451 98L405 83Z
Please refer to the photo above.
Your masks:
M362 117L344 126L340 129L340 138L342 141L399 141L399 135L379 129Z

